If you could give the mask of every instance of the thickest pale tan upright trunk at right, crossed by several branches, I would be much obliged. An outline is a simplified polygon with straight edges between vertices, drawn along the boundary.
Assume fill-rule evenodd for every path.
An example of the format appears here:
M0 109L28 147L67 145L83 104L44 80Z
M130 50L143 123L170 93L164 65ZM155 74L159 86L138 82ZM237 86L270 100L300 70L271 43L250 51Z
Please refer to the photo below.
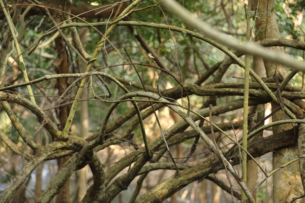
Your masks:
M276 9L272 9L275 5L275 0L255 0L253 4L253 11L257 11L256 29L259 40L263 39L277 39L280 37L279 28L276 20ZM272 51L284 52L282 47L269 48ZM287 75L287 70L280 64L264 60L267 77L272 77L277 73L282 76ZM272 109L277 106L272 103ZM282 110L278 111L272 116L272 121L287 119ZM291 124L279 125L273 127L273 133L292 128ZM273 169L297 157L297 146L292 146L280 150L280 153L273 153ZM273 176L273 202L289 202L293 197L300 196L303 193L302 184L300 180L300 172L298 163L295 162L290 166L284 168L282 171Z

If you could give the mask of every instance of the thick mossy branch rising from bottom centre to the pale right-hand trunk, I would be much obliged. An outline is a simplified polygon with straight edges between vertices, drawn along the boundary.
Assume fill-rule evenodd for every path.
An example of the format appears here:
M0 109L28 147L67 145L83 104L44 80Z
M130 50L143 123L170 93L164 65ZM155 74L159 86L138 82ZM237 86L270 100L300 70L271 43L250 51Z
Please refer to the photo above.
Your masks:
M262 138L255 143L250 143L248 145L248 151L254 157L259 157L269 151L276 151L281 148L291 146L296 143L297 133L297 129L290 129L279 134L269 136L267 138ZM237 153L236 157L238 156L239 155ZM175 174L174 176L171 176L155 188L145 193L136 202L162 202L188 184L197 180L201 180L203 177L206 177L210 173L217 173L218 171L222 170L223 166L220 165L213 168L211 167L216 163L217 161L211 161L210 159L207 159L191 168L182 170L178 175ZM232 164L239 164L239 159L233 161Z

